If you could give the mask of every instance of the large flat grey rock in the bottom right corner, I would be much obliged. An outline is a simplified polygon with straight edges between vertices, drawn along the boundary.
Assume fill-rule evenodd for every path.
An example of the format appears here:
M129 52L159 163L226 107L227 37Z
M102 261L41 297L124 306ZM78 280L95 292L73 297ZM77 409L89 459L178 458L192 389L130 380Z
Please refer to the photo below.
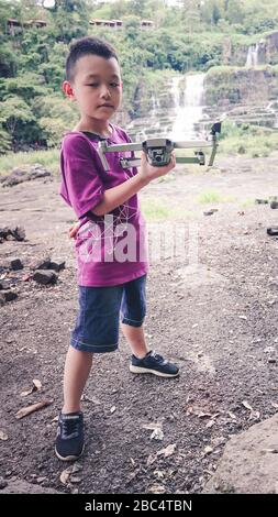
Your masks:
M231 438L204 494L278 494L278 414Z

